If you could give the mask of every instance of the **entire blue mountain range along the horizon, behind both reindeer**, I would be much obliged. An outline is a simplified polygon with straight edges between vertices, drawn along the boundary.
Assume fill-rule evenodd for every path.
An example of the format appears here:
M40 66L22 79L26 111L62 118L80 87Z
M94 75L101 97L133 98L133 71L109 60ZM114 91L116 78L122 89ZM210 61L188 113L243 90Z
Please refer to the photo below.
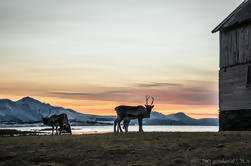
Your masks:
M111 125L115 116L100 116L83 114L72 109L55 107L42 103L31 97L24 97L18 101L0 99L0 123L41 123L42 117L53 114L66 113L71 125ZM137 124L133 120L131 124ZM150 119L144 119L145 125L218 125L217 118L194 119L183 112L164 115L153 111Z

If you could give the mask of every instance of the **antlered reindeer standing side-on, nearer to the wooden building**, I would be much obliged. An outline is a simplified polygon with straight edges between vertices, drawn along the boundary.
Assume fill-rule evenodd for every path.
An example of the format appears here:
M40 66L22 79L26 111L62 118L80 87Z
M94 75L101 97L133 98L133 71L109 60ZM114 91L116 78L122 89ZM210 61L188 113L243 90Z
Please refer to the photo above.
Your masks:
M150 96L146 96L145 106L118 106L115 108L117 112L117 119L114 121L114 132L123 132L120 126L120 122L123 121L124 129L128 132L128 126L132 119L138 119L139 123L139 132L143 132L142 129L142 120L144 118L150 118L152 108L154 107L153 102L154 98L152 97L152 103L149 105L148 100ZM116 128L118 125L118 128Z

